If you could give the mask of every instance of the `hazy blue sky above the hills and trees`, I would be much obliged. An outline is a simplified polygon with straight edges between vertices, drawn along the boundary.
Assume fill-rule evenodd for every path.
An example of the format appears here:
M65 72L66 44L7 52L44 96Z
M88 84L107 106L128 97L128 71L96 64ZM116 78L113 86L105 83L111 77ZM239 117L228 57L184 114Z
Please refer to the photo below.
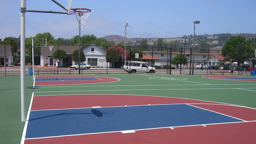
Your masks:
M67 0L57 0L67 6ZM20 36L20 0L1 0L0 38ZM172 38L194 34L256 34L256 0L72 0L72 8L92 12L83 34L101 38ZM51 0L26 0L26 9L65 11ZM74 15L26 12L26 38L50 32L54 38L79 34Z

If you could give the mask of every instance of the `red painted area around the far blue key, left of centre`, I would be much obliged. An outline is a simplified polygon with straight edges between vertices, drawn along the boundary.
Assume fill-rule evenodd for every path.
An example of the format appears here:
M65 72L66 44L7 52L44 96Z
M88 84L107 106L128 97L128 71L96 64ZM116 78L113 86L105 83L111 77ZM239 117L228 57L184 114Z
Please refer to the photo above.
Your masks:
M44 86L44 85L66 85L66 84L95 84L104 82L116 82L120 79L118 78L108 78L101 76L36 76L36 80L40 79L61 79L61 78L96 78L97 80L58 80L58 81L35 81L34 86Z

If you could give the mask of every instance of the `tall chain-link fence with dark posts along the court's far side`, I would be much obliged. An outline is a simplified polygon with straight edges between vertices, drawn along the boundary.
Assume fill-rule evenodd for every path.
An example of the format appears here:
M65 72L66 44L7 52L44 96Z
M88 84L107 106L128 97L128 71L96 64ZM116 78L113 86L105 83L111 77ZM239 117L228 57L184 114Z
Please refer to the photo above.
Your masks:
M9 45L10 46L10 45ZM0 47L1 66L6 59L6 45ZM122 70L126 61L138 60L147 62L149 66L156 68L159 74L209 74L210 70L240 70L239 68L254 67L254 52L222 52L220 49L200 50L192 48L176 48L170 47L141 47L141 46L97 46L91 44L88 46L80 46L80 51L84 53L86 60L81 61L90 65L89 70L82 70L82 74L87 73L127 73ZM18 63L20 58L20 46L16 54L12 54L13 60L9 61L9 65ZM52 53L57 50L66 51L66 58L54 59ZM115 49L116 53L113 55ZM125 52L125 50L126 52ZM59 68L70 68L78 64L72 60L74 50L79 50L79 46L70 45L54 45L52 51L46 47L34 48L34 65L44 66L44 62L48 63L48 67L56 68L55 61L59 61ZM26 46L26 65L32 65L32 46ZM118 55L118 56L116 56ZM225 57L226 56L226 57ZM232 56L232 59L228 56ZM11 58L11 57L10 57ZM205 67L197 66L202 64ZM113 70L116 70L113 72ZM84 73L83 73L84 72ZM74 70L72 74L76 74Z

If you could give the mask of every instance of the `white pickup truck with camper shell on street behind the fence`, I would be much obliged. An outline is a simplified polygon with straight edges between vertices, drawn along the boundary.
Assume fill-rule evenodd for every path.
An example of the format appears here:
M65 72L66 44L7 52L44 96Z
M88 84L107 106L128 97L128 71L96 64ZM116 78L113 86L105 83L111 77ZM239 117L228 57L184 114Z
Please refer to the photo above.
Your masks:
M148 66L147 62L140 62L140 61L126 61L127 65L124 65L123 70L126 72L147 72L153 73L156 72L156 68Z

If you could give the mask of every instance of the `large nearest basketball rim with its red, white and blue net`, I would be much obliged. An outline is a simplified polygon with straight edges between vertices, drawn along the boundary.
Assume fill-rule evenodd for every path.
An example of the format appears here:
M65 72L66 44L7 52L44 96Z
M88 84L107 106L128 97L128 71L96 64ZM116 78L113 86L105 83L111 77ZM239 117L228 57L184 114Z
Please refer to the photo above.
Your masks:
M70 10L69 14L74 14L78 22L78 27L83 28L90 12L91 10L87 8L74 8Z

